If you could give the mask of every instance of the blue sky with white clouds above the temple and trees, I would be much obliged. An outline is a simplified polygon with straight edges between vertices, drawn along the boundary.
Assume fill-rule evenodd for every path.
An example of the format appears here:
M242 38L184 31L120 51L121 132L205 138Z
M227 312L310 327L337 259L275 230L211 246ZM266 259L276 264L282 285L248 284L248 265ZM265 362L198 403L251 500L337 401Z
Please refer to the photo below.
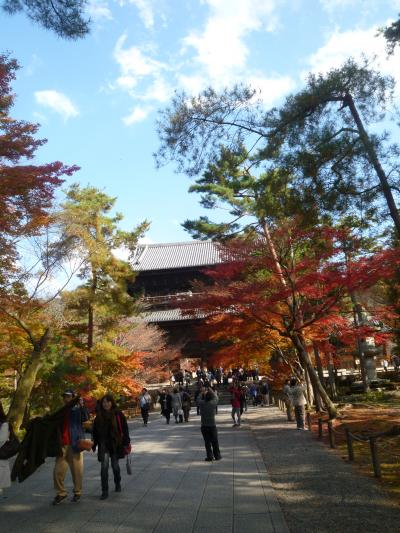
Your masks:
M79 165L70 182L118 197L126 229L150 220L151 242L190 239L180 224L202 213L189 179L152 156L174 90L247 82L271 106L361 53L400 78L400 53L387 60L376 37L400 0L92 0L89 12L80 41L0 13L0 50L22 67L13 116L41 124L39 161Z

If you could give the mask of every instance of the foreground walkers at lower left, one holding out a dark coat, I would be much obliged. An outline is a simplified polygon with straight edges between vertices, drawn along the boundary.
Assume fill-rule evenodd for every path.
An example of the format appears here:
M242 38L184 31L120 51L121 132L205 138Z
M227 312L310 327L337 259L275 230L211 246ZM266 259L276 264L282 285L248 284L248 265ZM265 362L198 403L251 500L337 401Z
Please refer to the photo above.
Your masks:
M70 470L73 481L71 501L81 499L83 483L83 451L97 451L100 462L101 499L109 493L109 465L111 464L115 491L121 492L119 460L130 453L128 424L122 411L117 408L111 394L104 395L96 406L92 426L92 439L85 438L83 424L88 421L88 411L82 399L72 390L62 394L64 406L54 414L34 418L20 445L10 476L9 461L0 460L0 488L10 486L11 480L24 481L45 462L55 457L53 482L55 497L53 505L59 505L67 496L64 480ZM10 438L7 423L0 404L0 448Z

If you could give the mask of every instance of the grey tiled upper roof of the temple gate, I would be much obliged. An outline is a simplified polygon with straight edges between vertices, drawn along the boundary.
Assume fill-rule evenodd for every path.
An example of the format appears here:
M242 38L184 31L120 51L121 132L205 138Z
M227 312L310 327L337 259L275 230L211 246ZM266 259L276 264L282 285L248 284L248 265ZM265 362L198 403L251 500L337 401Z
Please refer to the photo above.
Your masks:
M213 241L141 244L132 259L138 272L216 265L223 262L223 253Z

